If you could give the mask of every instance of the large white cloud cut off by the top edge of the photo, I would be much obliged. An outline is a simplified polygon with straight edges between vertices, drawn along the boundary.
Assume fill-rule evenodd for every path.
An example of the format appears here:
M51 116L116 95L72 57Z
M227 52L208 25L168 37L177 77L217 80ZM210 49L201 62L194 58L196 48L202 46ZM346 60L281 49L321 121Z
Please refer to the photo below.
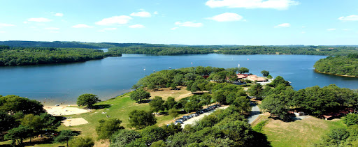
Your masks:
M210 8L273 8L286 10L289 6L299 5L294 0L208 0L206 6Z

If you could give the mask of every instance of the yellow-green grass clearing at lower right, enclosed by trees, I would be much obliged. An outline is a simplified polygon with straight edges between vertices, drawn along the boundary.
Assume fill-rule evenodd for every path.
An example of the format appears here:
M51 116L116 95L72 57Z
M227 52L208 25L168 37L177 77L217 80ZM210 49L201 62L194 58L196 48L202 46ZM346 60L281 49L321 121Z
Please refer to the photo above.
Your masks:
M339 119L325 121L313 116L289 123L269 118L263 133L274 147L313 146L324 134L336 127L345 127L345 125Z

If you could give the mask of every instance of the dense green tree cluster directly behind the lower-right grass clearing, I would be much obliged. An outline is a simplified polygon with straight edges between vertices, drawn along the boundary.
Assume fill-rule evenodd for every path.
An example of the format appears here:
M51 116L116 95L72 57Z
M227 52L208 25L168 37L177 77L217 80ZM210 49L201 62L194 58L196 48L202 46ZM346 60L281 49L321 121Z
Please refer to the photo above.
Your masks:
M289 118L288 112L294 110L323 118L323 115L338 113L347 107L358 108L358 93L349 88L339 88L334 84L294 91L288 82L278 76L271 86L263 88L259 84L252 85L250 95L263 99L262 109L282 119Z

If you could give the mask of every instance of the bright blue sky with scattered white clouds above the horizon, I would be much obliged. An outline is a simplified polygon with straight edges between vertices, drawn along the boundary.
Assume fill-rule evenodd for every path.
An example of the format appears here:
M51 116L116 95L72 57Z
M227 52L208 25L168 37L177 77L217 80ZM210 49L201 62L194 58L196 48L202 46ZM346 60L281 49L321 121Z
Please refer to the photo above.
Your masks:
M358 45L357 0L0 1L0 40Z

